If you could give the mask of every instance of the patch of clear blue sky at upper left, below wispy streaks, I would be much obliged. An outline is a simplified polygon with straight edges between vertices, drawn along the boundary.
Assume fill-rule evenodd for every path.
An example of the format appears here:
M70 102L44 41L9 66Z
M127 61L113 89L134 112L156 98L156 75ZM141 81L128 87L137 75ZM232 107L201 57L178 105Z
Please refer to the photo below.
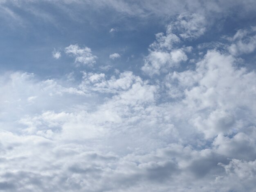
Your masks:
M28 3L27 10L23 6L6 6L21 22L10 21L10 18L3 20L0 37L2 69L24 70L40 76L63 75L74 70L72 58L62 54L63 58L52 60L53 47L63 51L71 44L79 44L80 47L90 47L99 58L96 66L111 63L121 71L131 68L136 71L143 55L147 54L149 43L155 39L154 34L164 29L157 22L149 23L146 19L118 18L119 13L112 9L92 11L85 6L78 8L72 18L70 14L73 12L68 12L72 5L68 11L50 2ZM8 22L12 22L11 26ZM119 31L109 33L112 27ZM113 62L109 55L115 52L121 54L121 58Z

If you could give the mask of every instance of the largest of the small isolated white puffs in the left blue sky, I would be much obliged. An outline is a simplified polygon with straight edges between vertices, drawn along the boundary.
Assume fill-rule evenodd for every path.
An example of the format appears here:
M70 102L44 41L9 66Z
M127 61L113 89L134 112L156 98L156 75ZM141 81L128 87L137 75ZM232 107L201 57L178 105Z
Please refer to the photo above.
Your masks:
M97 56L92 54L92 51L88 47L80 48L77 44L70 45L65 48L65 54L75 58L77 65L83 64L92 66L96 63Z

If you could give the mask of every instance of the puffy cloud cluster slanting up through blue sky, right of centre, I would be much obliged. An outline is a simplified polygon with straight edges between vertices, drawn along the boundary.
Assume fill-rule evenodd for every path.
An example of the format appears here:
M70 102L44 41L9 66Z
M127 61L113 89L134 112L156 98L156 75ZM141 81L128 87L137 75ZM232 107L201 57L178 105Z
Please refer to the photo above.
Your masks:
M180 46L182 39L198 38L206 31L204 16L199 14L181 14L175 22L167 26L166 35L156 34L156 41L150 45L149 54L141 68L146 74L153 76L166 73L170 68L180 66L188 60L186 52L192 47Z

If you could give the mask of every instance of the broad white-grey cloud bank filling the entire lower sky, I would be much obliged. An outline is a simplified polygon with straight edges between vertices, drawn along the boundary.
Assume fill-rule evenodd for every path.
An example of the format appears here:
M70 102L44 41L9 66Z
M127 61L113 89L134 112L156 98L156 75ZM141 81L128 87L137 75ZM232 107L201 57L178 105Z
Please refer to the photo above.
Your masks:
M161 102L161 85L150 85L130 71L116 76L83 72L74 87L36 80L33 74L5 74L1 91L9 89L12 96L1 98L6 101L1 118L17 107L10 105L13 101L19 102L16 110L26 107L26 113L2 122L9 127L0 132L1 161L8 162L0 172L2 188L252 190L256 74L236 62L212 50L194 70L167 74L166 91L178 93L173 102ZM40 105L44 100L49 105ZM10 129L13 118L13 126L22 129Z

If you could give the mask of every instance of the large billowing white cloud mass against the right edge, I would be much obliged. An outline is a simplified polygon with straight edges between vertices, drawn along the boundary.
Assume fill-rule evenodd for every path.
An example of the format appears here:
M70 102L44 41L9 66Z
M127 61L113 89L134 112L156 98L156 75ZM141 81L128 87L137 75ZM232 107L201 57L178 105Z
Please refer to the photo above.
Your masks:
M252 83L256 74L244 68L236 69L234 57L217 51L209 51L196 65L195 71L173 72L166 79L171 96L185 96L182 103L186 104L187 112L188 109L193 111L190 114L193 126L206 138L211 138L220 133L232 134L247 124L254 124L253 118L243 115L243 110L251 115L256 110L251 105L256 95Z

